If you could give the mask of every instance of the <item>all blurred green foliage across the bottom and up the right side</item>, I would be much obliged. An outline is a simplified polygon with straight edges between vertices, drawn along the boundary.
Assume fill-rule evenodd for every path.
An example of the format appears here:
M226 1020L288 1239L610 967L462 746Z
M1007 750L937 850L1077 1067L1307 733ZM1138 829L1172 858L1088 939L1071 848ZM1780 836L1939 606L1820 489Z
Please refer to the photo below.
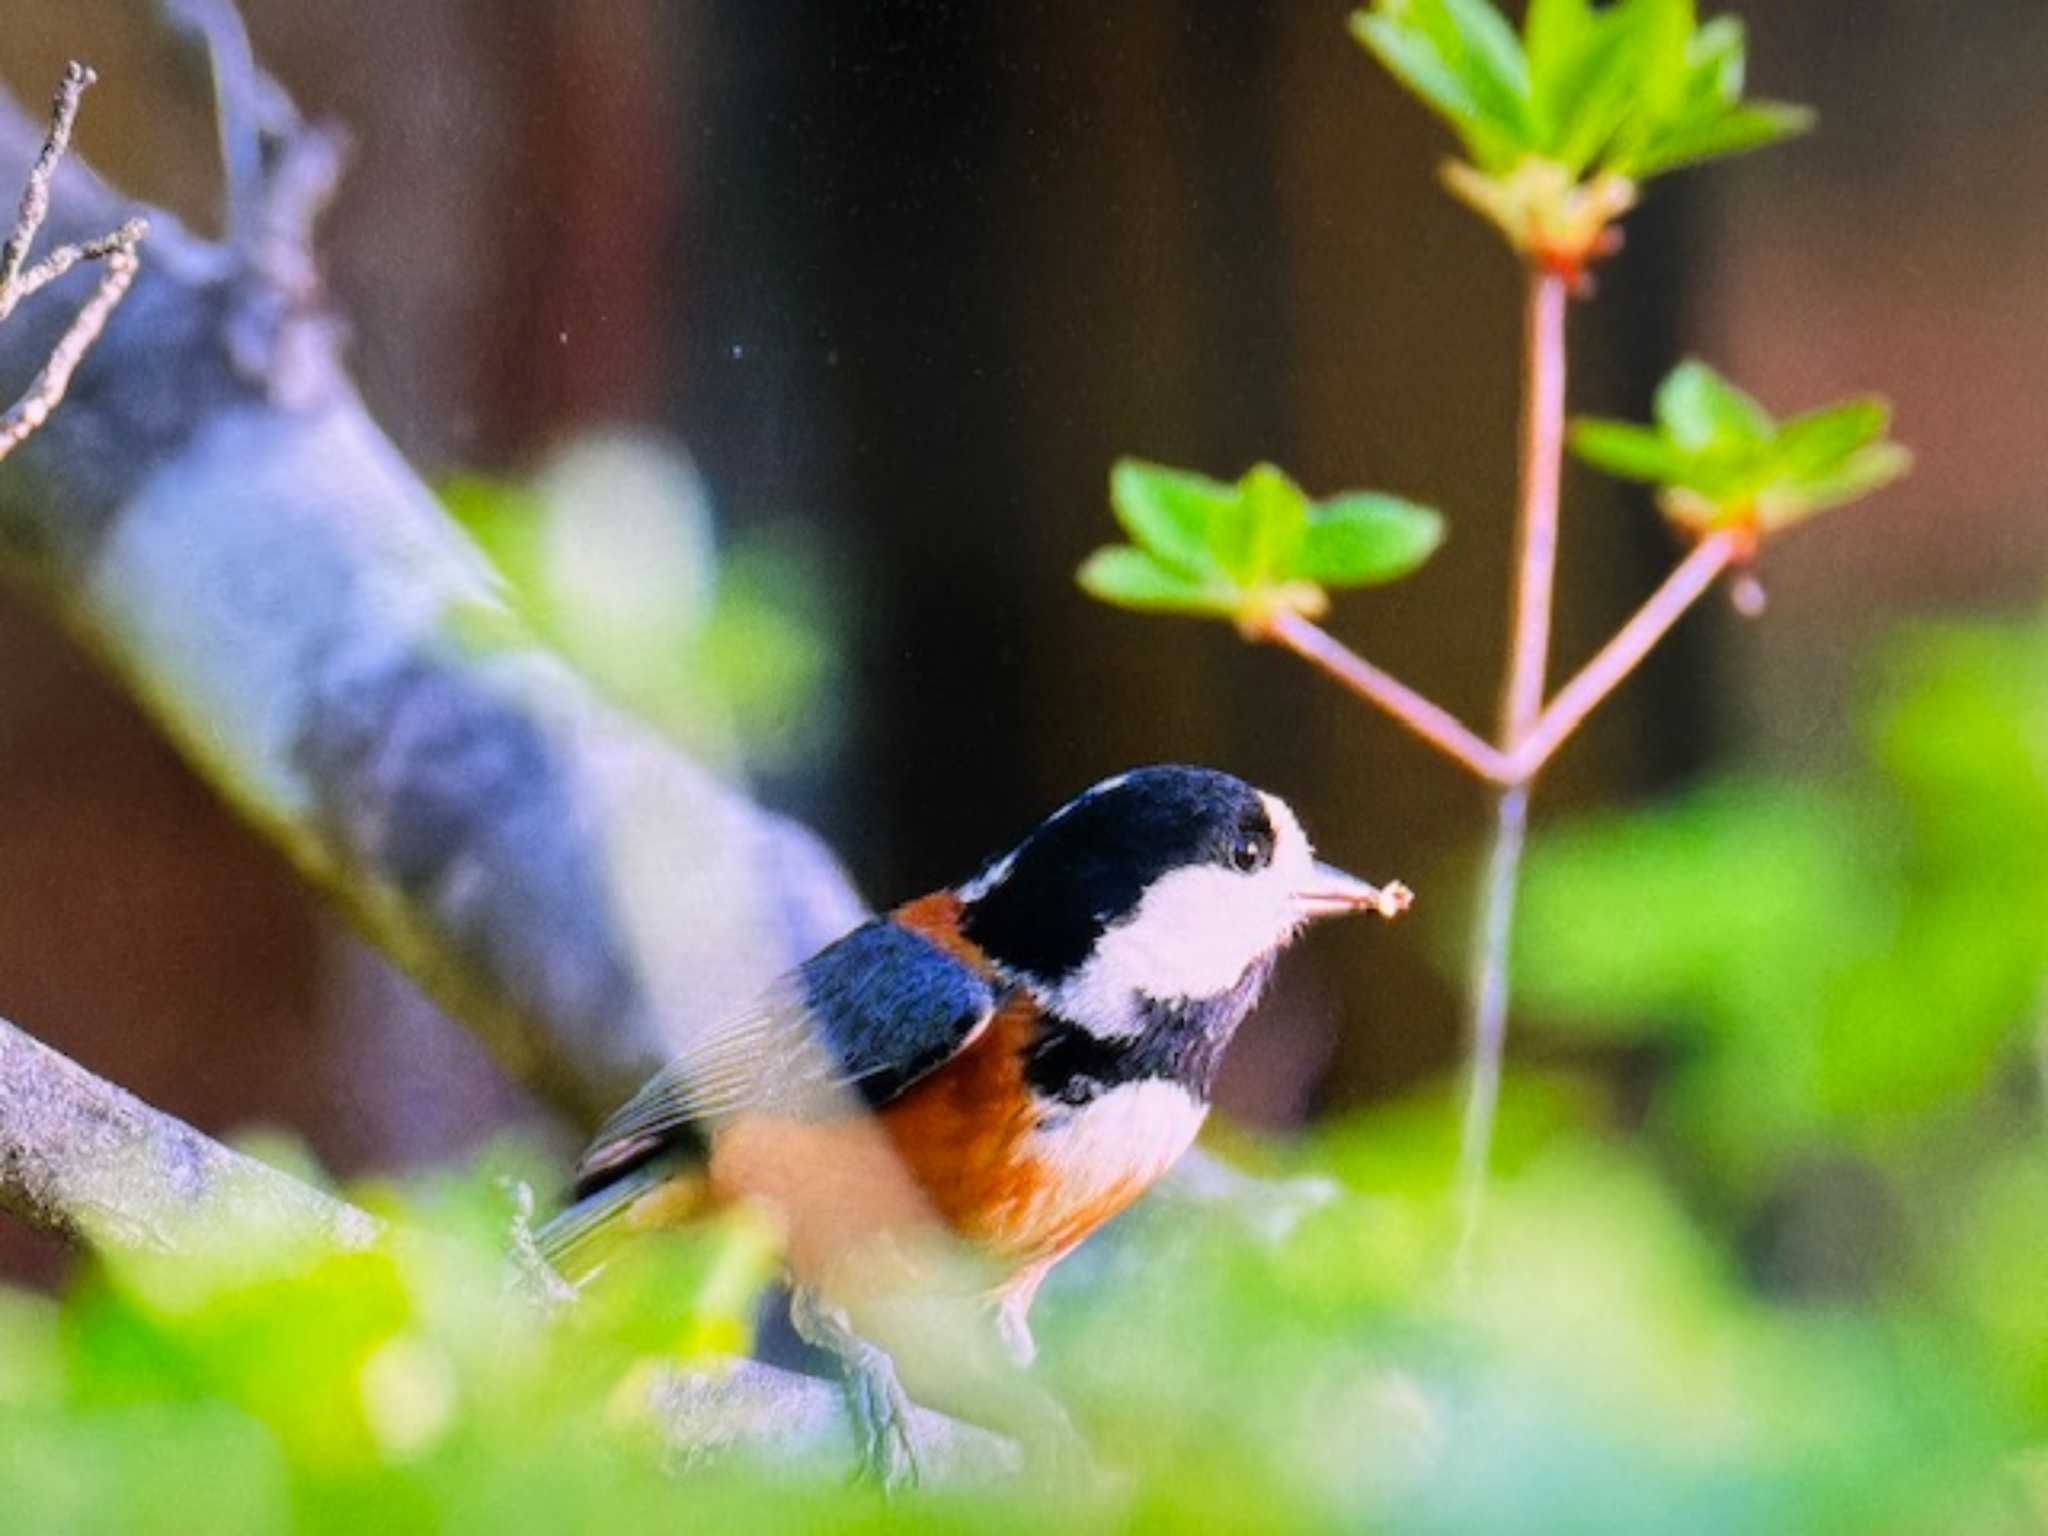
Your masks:
M745 1346L772 1245L647 1243L547 1317L502 1176L557 1171L502 1153L356 1190L375 1251L215 1231L0 1296L6 1530L2048 1528L2048 627L1901 643L1866 741L1538 842L1546 1065L1462 1286L1448 1100L1247 1149L1325 1200L1085 1249L1040 1372L1100 1487L682 1466L645 1386Z

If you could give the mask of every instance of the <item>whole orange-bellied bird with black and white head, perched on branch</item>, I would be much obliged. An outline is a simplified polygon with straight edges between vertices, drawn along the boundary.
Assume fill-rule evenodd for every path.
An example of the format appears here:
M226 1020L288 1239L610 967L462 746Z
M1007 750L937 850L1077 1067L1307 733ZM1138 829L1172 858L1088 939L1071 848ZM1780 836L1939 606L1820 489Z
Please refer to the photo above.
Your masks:
M903 1481L903 1348L874 1343L866 1305L926 1282L895 1274L915 1268L897 1235L965 1239L1028 1364L1038 1282L1194 1141L1278 952L1317 918L1407 903L1317 862L1286 803L1229 774L1118 774L694 1040L604 1124L541 1245L580 1274L600 1239L770 1206L793 1323L846 1366L870 1470Z

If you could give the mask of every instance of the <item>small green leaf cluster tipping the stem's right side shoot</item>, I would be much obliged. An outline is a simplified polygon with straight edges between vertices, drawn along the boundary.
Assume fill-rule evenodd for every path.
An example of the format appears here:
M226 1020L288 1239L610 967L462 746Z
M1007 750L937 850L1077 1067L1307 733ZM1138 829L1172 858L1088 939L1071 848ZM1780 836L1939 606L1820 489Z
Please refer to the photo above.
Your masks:
M1890 406L1866 395L1780 422L1690 360L1659 387L1655 426L1579 420L1571 449L1595 469L1661 487L1665 514L1690 532L1772 535L1905 475L1913 457L1890 440Z

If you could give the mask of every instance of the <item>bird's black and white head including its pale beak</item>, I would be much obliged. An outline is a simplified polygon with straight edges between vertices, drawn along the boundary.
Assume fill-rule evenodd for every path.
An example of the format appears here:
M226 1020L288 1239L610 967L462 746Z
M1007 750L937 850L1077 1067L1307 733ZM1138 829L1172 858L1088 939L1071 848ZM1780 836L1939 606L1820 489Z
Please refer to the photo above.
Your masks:
M1094 1012L1231 991L1309 918L1382 895L1317 864L1278 797L1180 766L1106 778L961 887L969 938Z

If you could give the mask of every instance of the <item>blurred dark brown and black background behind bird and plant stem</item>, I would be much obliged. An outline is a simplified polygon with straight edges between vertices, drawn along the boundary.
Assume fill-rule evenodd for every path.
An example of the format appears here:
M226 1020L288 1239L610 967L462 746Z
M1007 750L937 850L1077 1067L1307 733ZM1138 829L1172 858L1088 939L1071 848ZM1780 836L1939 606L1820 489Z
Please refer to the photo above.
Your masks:
M1642 414L1681 352L1792 412L1882 389L1903 489L1774 551L1769 614L1710 604L1569 750L1542 813L1753 758L1839 758L1853 659L1901 616L2038 600L2048 518L2048 8L1772 0L1755 88L1821 131L1661 182L1575 315L1575 410ZM1434 905L1286 971L1225 1102L1257 1124L1456 1061L1483 827L1452 768L1225 627L1085 600L1110 461L1432 500L1452 543L1333 627L1493 713L1520 279L1434 180L1448 139L1346 4L258 0L258 55L344 123L326 270L373 412L428 475L516 475L653 426L721 524L827 561L844 739L762 782L877 901L952 881L1090 780L1200 760ZM0 76L98 68L82 152L217 223L209 88L141 0L16 6ZM8 170L12 176L12 168ZM1661 575L1638 498L1567 485L1556 676ZM342 1174L535 1112L362 952L57 631L0 602L0 1014L215 1130ZM1438 879L1432 879L1438 877ZM12 1229L0 1266L51 1262Z

